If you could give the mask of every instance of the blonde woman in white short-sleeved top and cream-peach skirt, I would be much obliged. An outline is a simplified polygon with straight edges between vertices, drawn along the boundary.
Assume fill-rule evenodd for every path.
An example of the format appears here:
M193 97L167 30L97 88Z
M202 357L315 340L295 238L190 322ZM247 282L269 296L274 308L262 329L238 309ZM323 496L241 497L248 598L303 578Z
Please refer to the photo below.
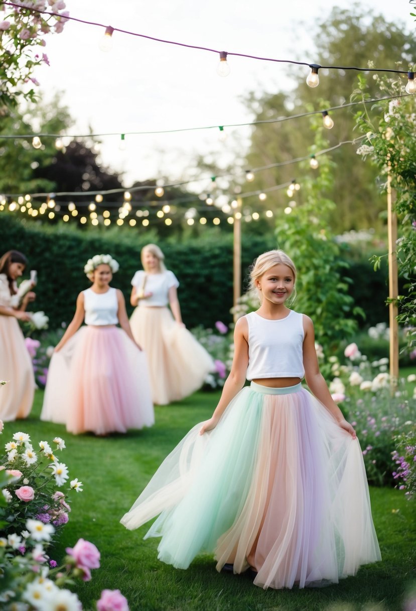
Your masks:
M182 323L179 282L165 268L159 246L147 244L141 258L143 270L132 279L131 304L137 307L130 324L148 356L153 401L167 405L198 390L215 366Z

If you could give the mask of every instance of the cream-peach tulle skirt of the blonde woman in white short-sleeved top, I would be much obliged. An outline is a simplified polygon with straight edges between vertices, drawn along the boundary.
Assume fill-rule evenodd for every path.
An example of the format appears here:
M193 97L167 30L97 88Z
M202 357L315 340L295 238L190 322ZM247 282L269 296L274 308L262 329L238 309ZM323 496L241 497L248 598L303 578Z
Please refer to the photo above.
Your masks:
M215 370L206 349L167 307L137 307L130 319L136 342L146 351L153 402L167 405L201 388Z

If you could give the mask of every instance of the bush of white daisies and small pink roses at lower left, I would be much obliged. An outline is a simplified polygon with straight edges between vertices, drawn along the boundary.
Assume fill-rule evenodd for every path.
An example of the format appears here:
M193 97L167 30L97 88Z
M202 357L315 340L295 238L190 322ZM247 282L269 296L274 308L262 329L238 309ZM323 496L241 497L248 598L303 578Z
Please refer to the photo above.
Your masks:
M1 423L1 431L2 428ZM8 480L1 491L1 498L5 500L0 507L1 535L13 532L22 536L28 519L42 525L39 532L51 534L68 522L71 508L67 492L57 490L69 479L68 469L54 454L65 448L65 442L55 437L52 445L54 450L47 441L40 441L35 451L29 435L20 431L5 444L0 471L5 472ZM81 492L82 482L71 480L67 488L70 490Z

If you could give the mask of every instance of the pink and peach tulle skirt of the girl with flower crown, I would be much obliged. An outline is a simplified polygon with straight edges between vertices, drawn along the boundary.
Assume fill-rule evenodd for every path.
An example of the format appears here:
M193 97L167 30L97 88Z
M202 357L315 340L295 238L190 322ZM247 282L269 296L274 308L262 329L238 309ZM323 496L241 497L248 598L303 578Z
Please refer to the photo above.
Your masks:
M75 434L151 426L145 353L118 327L81 327L52 356L40 419Z

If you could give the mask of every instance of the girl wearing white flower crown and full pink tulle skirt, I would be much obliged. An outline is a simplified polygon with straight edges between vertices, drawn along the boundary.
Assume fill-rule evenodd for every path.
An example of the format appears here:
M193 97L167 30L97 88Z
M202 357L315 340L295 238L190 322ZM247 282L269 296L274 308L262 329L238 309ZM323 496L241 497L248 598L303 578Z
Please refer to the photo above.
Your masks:
M91 288L79 293L49 365L40 418L65 423L70 433L125 433L154 423L146 355L134 342L123 293L110 287L117 270L110 255L88 260Z

